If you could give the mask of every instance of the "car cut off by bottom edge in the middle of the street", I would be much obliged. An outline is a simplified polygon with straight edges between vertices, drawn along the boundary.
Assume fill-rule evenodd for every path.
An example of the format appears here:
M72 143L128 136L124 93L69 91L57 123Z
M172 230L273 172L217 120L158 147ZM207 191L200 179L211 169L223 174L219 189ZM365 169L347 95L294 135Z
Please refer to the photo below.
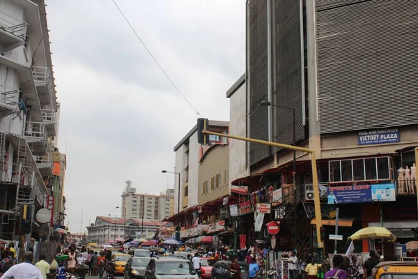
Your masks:
M179 257L152 257L145 270L145 279L198 279L193 264Z

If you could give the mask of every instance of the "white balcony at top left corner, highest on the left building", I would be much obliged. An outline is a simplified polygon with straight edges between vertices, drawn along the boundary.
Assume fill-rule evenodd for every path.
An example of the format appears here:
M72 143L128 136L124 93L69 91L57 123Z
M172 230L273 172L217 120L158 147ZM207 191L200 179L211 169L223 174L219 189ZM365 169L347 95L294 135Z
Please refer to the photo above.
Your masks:
M27 27L26 22L0 10L0 44L4 45L4 51L13 50L24 44Z

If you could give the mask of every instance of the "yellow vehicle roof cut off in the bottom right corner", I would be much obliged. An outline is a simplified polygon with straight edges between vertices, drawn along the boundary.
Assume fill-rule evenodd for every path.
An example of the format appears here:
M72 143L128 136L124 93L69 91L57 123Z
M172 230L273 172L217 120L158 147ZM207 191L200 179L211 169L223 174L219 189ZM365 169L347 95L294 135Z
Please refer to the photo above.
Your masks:
M418 278L418 262L381 262L373 269L373 276L369 278L416 279Z

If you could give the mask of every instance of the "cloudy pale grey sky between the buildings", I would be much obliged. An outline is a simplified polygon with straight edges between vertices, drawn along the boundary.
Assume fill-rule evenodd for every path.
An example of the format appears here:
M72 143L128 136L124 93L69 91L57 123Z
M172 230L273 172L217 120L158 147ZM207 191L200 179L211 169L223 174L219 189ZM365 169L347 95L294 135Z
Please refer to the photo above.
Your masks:
M116 0L180 91L209 119L229 120L226 90L245 71L245 0ZM79 232L118 214L125 181L173 185L173 146L196 112L176 92L111 0L47 0L67 149L66 222ZM83 218L82 209L84 211Z

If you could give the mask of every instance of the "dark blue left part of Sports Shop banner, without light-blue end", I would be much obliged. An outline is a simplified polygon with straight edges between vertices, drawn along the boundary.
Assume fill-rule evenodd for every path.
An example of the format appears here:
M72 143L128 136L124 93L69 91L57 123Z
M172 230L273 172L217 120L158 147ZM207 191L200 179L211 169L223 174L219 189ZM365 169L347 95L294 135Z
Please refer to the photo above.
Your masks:
M328 204L355 204L373 202L371 199L371 186L349 185L330 186L327 190Z

